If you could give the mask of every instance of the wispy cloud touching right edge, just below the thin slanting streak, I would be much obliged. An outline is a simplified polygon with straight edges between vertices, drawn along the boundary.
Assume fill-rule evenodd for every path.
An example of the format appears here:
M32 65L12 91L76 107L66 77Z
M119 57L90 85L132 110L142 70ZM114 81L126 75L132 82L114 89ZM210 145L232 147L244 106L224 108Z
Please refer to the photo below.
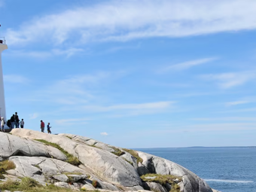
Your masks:
M256 78L256 71L229 72L216 75L202 75L208 81L217 81L219 87L228 89L247 83Z

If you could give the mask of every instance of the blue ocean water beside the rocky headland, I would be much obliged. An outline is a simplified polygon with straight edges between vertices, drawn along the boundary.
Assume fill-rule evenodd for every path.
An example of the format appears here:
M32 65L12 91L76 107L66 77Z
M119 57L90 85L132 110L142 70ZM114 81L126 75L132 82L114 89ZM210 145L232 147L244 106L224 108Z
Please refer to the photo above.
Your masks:
M256 192L256 148L136 149L184 166L221 192Z

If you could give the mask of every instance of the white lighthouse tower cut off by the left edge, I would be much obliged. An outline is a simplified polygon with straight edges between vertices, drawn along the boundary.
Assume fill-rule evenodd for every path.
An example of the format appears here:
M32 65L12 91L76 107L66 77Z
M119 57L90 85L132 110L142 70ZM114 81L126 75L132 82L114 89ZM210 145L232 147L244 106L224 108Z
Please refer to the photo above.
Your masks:
M0 116L5 119L5 127L8 129L5 109L5 88L2 69L2 51L8 49L5 38L0 37Z

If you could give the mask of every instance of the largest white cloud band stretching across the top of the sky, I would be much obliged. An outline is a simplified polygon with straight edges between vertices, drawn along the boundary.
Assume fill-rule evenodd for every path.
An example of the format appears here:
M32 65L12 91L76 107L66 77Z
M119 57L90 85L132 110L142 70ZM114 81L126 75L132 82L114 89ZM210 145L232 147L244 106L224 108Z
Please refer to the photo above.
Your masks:
M251 30L255 9L254 0L114 0L24 21L5 36L9 44L80 44Z

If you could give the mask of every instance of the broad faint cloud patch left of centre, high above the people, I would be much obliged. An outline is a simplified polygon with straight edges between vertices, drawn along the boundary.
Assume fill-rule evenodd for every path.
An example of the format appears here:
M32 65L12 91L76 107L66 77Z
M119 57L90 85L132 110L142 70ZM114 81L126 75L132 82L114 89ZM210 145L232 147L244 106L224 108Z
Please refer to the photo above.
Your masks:
M123 75L126 75L126 72L96 72L89 75L72 75L50 82L42 89L33 90L32 93L29 93L29 96L26 96L26 100L53 102L54 104L61 104L63 108L67 105L81 108L89 101L100 97L99 93L102 92L102 86L123 77Z

